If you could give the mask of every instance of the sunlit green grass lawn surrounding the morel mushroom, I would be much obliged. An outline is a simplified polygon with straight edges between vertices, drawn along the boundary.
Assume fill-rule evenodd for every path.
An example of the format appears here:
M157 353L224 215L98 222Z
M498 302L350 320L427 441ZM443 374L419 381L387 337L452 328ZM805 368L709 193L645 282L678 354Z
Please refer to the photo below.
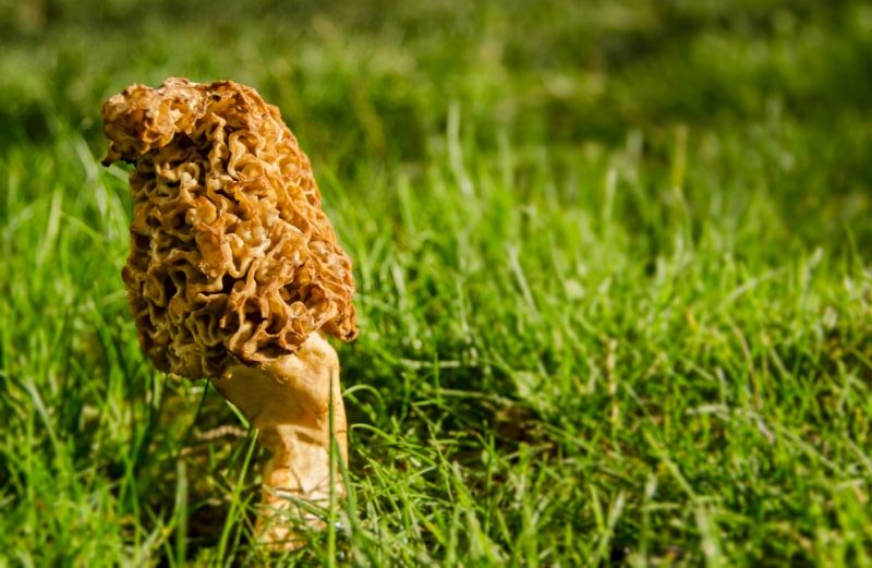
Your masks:
M0 565L872 564L864 2L5 3ZM286 558L126 307L99 106L168 75L278 104L355 261L342 528Z

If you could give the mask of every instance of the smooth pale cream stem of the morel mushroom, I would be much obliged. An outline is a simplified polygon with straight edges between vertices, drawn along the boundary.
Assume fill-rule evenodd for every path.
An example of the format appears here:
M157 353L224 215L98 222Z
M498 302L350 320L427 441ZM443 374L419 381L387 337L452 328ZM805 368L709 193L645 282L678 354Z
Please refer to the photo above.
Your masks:
M306 504L328 507L331 490L334 497L344 495L337 466L338 459L348 461L348 425L336 351L313 333L295 354L230 366L214 384L259 430L271 454L264 466L257 539L278 548L301 546L294 525L324 525ZM338 448L332 457L331 439Z

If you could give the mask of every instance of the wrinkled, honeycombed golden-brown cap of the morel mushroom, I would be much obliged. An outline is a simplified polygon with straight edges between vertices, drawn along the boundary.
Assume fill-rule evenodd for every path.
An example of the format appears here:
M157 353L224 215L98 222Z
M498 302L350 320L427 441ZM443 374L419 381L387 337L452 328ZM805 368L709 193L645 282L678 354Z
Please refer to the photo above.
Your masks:
M351 261L279 110L231 81L132 85L102 108L104 165L135 165L122 277L161 371L220 376L358 335Z

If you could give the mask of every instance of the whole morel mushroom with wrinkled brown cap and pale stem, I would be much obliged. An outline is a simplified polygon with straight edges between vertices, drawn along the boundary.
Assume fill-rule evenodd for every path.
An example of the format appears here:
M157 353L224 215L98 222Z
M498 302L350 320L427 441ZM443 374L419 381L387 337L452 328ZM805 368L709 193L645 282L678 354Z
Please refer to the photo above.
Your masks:
M102 120L104 165L135 166L122 277L142 348L164 372L210 378L259 428L271 458L256 532L295 546L279 513L324 505L331 480L343 493L339 360L324 334L358 335L351 262L308 158L275 106L230 81L133 85Z

